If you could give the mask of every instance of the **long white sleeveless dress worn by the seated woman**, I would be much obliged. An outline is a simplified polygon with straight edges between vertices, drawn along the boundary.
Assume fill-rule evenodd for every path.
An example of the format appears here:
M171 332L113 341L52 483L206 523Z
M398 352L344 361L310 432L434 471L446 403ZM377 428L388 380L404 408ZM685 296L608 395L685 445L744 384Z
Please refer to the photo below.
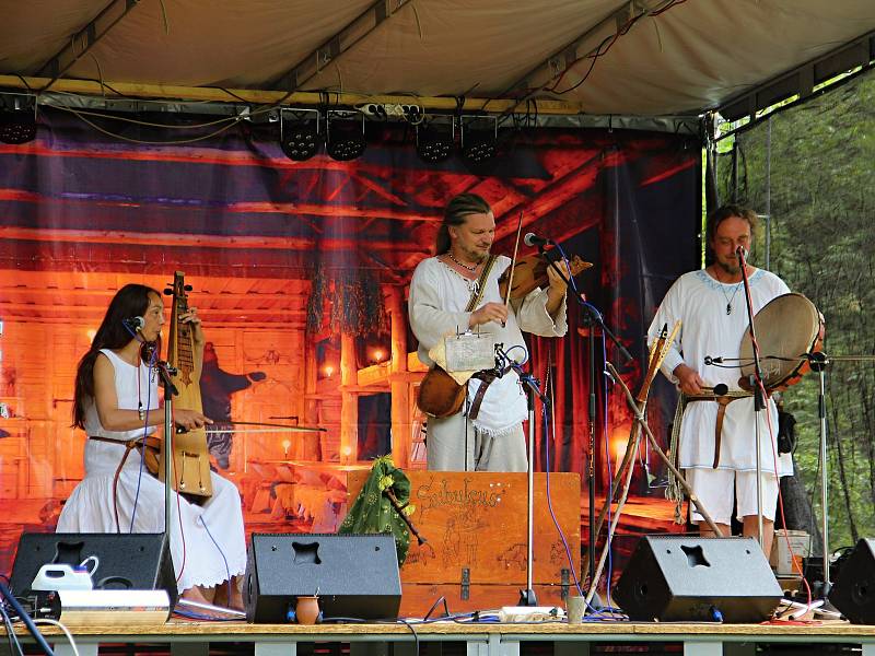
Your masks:
M158 382L150 380L147 366L135 367L107 349L101 351L115 368L118 407L163 412L158 403ZM139 385L137 376L139 373ZM162 532L164 530L164 483L140 467L137 449L131 449L118 479L118 519L113 503L113 478L125 454L124 443L142 437L143 430L106 431L97 418L93 400L85 410L89 435L118 440L119 444L85 442L85 478L63 505L58 532ZM153 432L154 429L149 429ZM241 499L236 487L214 472L212 496L202 505L174 494L171 523L171 555L179 591L199 585L212 587L246 569L246 538ZM177 509L178 508L178 509ZM179 519L182 517L182 520Z

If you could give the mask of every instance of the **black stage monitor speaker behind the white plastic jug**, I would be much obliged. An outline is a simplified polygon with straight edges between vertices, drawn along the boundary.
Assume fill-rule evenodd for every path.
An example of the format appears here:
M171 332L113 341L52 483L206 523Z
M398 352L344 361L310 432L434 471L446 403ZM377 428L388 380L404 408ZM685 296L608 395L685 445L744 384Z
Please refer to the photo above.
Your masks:
M26 597L43 565L78 565L91 555L97 558L91 576L95 588L165 589L171 608L176 604L176 576L164 534L22 534L9 587Z

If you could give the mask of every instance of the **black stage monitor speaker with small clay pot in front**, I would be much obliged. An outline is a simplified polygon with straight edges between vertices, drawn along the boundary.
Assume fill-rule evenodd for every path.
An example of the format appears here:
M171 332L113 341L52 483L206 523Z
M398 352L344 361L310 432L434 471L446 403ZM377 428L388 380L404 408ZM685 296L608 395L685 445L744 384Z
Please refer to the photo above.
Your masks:
M299 596L318 595L324 619L396 619L401 579L389 535L253 534L246 619L285 623Z

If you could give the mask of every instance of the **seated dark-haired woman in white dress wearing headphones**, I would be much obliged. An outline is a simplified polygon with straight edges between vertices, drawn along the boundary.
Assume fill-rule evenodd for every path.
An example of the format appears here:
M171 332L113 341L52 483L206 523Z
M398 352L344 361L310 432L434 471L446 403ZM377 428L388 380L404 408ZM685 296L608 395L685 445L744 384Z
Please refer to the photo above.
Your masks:
M192 328L195 365L203 358L196 308L179 320ZM85 477L63 506L58 532L162 532L164 483L141 466L139 442L164 424L160 409L155 343L164 304L153 289L121 288L106 311L75 377L73 425L86 432ZM186 430L212 423L200 412L174 407ZM238 582L246 567L241 499L214 472L212 496L202 505L175 492L170 549L183 598L242 609ZM229 585L224 585L229 584Z

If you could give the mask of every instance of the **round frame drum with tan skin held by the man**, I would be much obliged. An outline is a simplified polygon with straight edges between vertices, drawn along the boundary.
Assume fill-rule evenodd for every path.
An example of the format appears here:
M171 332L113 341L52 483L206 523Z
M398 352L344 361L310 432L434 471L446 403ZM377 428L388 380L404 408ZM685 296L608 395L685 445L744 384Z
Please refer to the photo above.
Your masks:
M824 315L802 294L782 294L769 301L754 316L759 342L760 366L766 389L780 391L795 385L808 372L807 353L820 351L824 342ZM742 379L746 389L754 374L754 345L750 330L742 338Z

